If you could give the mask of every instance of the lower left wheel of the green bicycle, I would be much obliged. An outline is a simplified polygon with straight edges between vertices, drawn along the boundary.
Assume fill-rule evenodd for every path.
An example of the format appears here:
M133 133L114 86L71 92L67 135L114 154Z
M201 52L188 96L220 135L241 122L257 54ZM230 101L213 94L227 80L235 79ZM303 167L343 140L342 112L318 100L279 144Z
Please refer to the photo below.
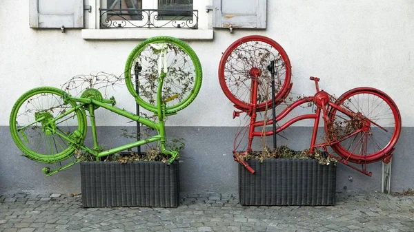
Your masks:
M10 133L17 147L37 162L59 162L75 154L69 140L83 143L86 114L77 103L63 101L63 92L38 87L21 96L10 114ZM58 117L58 118L57 118Z

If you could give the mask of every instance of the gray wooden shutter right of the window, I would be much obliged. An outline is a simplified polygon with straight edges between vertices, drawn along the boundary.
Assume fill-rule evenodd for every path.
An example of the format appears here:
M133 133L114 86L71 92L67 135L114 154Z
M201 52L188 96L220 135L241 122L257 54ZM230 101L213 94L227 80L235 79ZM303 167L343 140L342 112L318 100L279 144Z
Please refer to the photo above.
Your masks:
M266 0L213 0L213 28L266 28Z

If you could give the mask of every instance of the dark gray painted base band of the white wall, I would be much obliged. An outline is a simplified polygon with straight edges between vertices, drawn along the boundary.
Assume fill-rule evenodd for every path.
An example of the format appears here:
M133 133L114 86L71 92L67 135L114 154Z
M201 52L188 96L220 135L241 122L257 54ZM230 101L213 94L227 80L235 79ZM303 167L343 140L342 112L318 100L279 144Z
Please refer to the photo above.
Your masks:
M121 136L120 128L98 127L99 143L104 147L114 147L127 143ZM186 148L181 154L181 192L237 193L237 163L231 151L236 127L167 127L170 138L184 138ZM128 127L135 131L135 127ZM89 130L90 131L90 130ZM278 145L288 145L292 149L306 149L312 134L311 127L290 127L282 134L288 140L278 137ZM414 128L404 127L394 152L391 191L414 188ZM91 136L86 141L91 144ZM256 145L261 144L255 139ZM268 138L269 147L272 145ZM0 127L0 194L5 193L80 193L81 178L79 164L46 178L41 172L44 164L19 156L10 137L9 128ZM49 165L53 168L53 165ZM342 164L337 165L337 191L381 191L381 162L368 165L372 177ZM350 178L351 177L351 178ZM351 180L352 181L351 181Z

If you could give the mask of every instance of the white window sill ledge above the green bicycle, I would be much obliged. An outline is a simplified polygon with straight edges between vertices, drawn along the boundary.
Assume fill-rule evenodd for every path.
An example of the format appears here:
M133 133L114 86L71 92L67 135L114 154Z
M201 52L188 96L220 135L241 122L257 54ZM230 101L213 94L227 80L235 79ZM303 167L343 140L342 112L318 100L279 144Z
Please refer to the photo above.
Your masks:
M83 29L82 38L86 40L135 40L153 36L172 36L186 40L213 40L213 30L183 29Z

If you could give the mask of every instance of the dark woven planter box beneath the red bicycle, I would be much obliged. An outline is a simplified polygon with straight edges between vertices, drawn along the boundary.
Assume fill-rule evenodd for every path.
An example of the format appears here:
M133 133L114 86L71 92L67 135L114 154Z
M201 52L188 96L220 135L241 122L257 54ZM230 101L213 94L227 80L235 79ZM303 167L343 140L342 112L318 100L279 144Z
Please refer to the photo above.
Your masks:
M317 160L248 160L256 173L239 165L239 201L243 205L333 205L336 166Z

